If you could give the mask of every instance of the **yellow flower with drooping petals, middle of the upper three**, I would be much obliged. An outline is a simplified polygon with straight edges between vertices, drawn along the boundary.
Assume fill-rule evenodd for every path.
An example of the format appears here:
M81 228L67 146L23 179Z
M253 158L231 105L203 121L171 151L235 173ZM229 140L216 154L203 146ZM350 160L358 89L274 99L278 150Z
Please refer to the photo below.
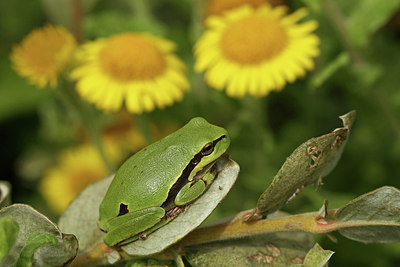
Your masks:
M181 100L189 88L174 50L152 35L118 34L84 45L71 77L81 97L100 109L117 111L125 103L131 113L149 112Z

